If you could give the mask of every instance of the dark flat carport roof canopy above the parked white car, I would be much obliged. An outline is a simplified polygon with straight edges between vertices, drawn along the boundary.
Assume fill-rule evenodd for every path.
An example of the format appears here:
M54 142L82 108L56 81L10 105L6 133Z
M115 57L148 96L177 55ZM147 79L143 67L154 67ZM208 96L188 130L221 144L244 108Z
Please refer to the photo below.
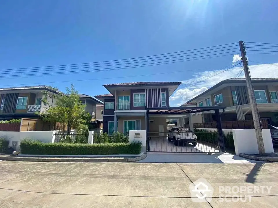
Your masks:
M147 108L148 114L189 114L199 113L217 109L225 109L225 106L210 106L210 107L163 107L163 108Z

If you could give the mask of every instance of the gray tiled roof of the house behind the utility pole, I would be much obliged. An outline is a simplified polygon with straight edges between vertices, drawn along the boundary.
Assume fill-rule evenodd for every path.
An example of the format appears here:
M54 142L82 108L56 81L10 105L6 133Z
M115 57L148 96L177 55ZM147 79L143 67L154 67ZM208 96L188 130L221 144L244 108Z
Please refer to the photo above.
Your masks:
M278 82L277 78L252 78L252 82L253 83L260 83L260 82ZM192 102L193 100L195 100L196 98L210 92L211 90L214 90L215 88L221 86L222 84L236 84L236 83L246 83L246 79L245 78L230 78L230 79L225 79L219 83L217 83L216 85L212 86L211 88L209 88L208 90L202 92L201 94L197 95L196 97L192 98L191 100L187 101L187 103Z

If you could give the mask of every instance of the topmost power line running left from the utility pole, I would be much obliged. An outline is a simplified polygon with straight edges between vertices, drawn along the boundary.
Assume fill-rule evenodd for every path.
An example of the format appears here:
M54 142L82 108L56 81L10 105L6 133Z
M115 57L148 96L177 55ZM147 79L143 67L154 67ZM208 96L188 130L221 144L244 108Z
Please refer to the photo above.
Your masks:
M208 49L208 48L214 48L214 47L225 46L225 45L232 45L232 44L237 44L237 43L228 43L228 44L216 45L216 46L211 46L211 47L191 49L191 50L186 50L186 51L195 51L195 50ZM230 47L233 47L233 46L230 46ZM95 63L104 63L104 62L131 60L131 59L138 59L138 58L147 58L147 57L153 57L153 56L159 56L159 55L167 55L167 54L173 54L173 53L182 53L182 52L186 52L186 51L177 51L177 52L172 52L172 53L162 53L162 54L157 54L157 55L149 55L149 56L141 56L141 57L136 57L136 58L118 59L118 60L101 61L101 62L88 62L88 63L79 63L79 64L64 64L64 65L38 66L38 67L26 67L26 68L12 68L12 69L8 69L8 70L31 69L31 68L45 68L45 67L56 67L56 66L70 66L70 65L73 66L73 65L81 65L81 64L95 64Z

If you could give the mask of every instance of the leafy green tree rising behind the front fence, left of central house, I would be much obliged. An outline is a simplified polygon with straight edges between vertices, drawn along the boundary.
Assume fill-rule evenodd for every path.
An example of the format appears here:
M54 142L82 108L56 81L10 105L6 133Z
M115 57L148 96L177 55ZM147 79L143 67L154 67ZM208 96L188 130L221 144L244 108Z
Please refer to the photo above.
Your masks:
M78 91L72 84L66 88L66 94L56 98L55 106L49 106L43 112L42 119L47 122L60 122L65 131L67 125L67 135L70 135L71 128L77 128L79 124L84 124L91 119L89 113L85 112L84 105L79 101Z

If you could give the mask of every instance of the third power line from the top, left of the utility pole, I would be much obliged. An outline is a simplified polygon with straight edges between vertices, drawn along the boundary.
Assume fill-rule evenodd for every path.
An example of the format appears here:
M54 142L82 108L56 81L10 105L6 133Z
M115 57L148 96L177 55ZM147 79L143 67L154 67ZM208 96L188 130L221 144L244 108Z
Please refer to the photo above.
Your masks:
M237 48L233 48L233 49L237 49ZM153 62L153 61L159 61L159 60L165 60L165 59L173 59L173 58L179 58L179 57L187 57L187 56L193 56L193 55L201 55L201 54L207 54L207 53L214 53L214 52L220 52L220 51L227 51L227 50L232 50L232 49L225 49L225 50L219 50L219 51L211 51L211 52L205 52L205 53L196 53L196 54L192 54L192 55L183 55L183 56L176 56L176 57L170 57L170 58L162 58L162 59L156 59L156 60L148 60L148 61L139 61L139 62L132 62L132 63L126 63L126 64L136 64L136 63L143 63L143 62ZM229 51L227 53L231 53L234 51ZM192 53L192 52L191 52ZM194 52L195 53L195 52ZM222 54L222 53L217 53L217 54L210 54L210 55L218 55L218 54ZM178 54L180 55L180 54ZM208 55L209 56L209 55ZM176 61L176 60L169 60L169 61ZM155 62L158 63L158 62ZM152 63L149 63L152 64ZM112 64L112 65L103 65L103 66L92 66L92 65L83 65L83 66L88 66L88 67L74 67L74 68L63 68L63 67L57 67L57 68L63 68L63 69L56 69L56 68L44 68L41 70L34 70L31 69L30 71L25 71L25 70L18 70L18 71L23 71L22 73L29 73L29 72L44 72L44 71L59 71L59 70L70 70L70 69L80 69L80 68L95 68L95 67L104 67L104 66L118 66L118 65L123 65L123 64ZM124 66L122 66L124 67ZM45 69L50 69L50 70L45 70ZM17 72L18 72L17 71ZM5 74L14 74L17 72L9 72L9 73L5 73Z

